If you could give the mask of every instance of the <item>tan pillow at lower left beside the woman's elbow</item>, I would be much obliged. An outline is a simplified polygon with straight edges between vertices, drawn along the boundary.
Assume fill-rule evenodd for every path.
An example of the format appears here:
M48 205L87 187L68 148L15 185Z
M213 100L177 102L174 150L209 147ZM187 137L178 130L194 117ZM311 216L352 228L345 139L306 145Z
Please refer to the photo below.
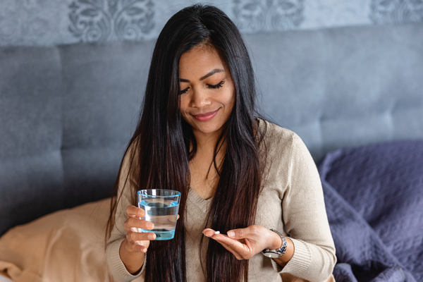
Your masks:
M113 281L104 248L109 209L110 198L12 228L0 238L0 272L16 282Z

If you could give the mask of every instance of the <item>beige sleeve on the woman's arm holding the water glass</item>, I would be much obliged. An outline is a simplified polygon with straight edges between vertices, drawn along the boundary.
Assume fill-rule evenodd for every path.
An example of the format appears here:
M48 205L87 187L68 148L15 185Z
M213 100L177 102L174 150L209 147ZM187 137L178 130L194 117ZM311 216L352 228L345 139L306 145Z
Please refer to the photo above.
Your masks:
M140 270L140 273L137 275L130 274L128 270L126 270L125 264L123 264L119 255L121 243L125 239L123 223L125 223L127 219L126 208L128 205L132 204L130 192L133 191L133 189L131 186L135 185L134 180L129 176L129 167L130 163L132 162L131 159L133 159L133 154L131 150L128 150L128 152L125 154L125 157L123 158L121 171L119 173L117 194L118 205L116 207L116 214L114 217L115 224L106 246L106 259L107 264L109 264L109 270L117 281L122 282L133 281L133 279L141 276L141 274L145 271L144 264ZM147 254L145 255L145 259L147 259Z

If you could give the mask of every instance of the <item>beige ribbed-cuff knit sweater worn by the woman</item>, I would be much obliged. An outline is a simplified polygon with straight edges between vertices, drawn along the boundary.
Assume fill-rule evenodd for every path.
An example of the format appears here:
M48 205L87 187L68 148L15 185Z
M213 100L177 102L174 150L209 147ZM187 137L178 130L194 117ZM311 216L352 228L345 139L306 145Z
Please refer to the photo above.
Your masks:
M283 268L261 253L255 255L249 262L248 281L282 281L280 273L283 272L309 281L325 281L332 273L336 257L316 165L298 135L264 120L259 120L259 127L267 128L262 143L266 149L260 150L267 154L255 224L288 233L295 252ZM114 277L119 281L132 281L142 275L145 264L140 274L133 276L119 257L119 247L125 238L125 209L131 203L130 192L133 191L123 187L128 175L125 159L118 192L125 190L116 210L116 224L106 255ZM130 180L127 185L134 185L134 182ZM188 282L205 281L200 262L205 262L205 257L199 257L198 247L211 204L212 199L204 200L193 190L189 191L184 224ZM207 247L207 240L212 239L204 238L204 247Z

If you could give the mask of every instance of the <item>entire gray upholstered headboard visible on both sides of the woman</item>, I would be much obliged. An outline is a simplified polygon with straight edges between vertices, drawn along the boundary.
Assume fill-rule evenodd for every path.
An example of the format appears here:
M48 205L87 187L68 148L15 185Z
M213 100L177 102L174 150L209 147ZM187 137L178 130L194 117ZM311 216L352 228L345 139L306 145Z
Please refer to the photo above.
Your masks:
M423 24L246 35L266 116L318 160L423 138ZM154 42L0 47L0 234L111 195Z

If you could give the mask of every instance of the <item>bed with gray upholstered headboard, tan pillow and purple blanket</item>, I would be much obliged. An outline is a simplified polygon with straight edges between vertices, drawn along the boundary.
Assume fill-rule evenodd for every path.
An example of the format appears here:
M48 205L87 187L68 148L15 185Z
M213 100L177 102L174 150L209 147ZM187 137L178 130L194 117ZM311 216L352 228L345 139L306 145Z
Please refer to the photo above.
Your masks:
M336 281L422 281L423 25L245 39L265 117L298 133L317 163ZM153 44L0 47L8 278L113 281L104 228Z

